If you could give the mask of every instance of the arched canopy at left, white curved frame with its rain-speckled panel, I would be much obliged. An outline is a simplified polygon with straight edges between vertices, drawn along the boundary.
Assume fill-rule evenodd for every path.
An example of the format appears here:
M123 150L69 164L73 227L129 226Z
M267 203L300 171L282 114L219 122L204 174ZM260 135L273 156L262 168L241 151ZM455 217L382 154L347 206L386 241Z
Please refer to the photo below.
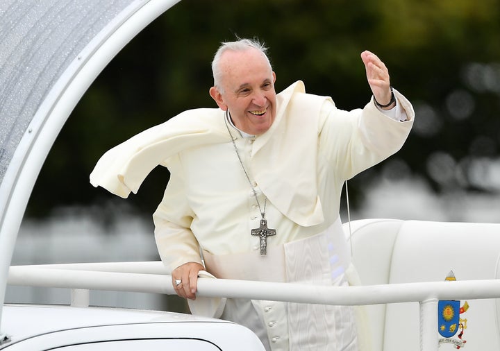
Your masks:
M108 62L178 1L2 1L0 320L17 232L58 133Z

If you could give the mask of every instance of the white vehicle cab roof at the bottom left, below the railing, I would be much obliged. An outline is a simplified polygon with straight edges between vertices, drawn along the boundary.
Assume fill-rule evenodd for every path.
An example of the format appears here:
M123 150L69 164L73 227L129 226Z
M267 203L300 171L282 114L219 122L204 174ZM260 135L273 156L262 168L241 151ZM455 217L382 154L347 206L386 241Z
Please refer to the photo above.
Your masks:
M6 332L12 342L3 348L9 351L264 350L245 327L186 314L43 305L6 305L5 309Z

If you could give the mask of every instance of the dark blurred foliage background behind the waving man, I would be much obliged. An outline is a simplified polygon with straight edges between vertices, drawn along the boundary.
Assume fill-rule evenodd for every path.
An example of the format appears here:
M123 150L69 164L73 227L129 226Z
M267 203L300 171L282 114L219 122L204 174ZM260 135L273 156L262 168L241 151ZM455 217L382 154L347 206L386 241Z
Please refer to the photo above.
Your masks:
M105 151L137 132L186 109L215 108L210 62L219 42L235 35L269 46L276 91L303 80L308 92L332 96L339 108L363 107L371 92L360 53L368 49L412 101L417 119L408 142L350 182L351 206L381 177L419 178L436 194L498 194L499 18L498 0L183 0L88 89L49 153L27 215L97 205L109 220L125 202L127 211L151 214L165 169L155 169L128 200L94 189L88 176Z

